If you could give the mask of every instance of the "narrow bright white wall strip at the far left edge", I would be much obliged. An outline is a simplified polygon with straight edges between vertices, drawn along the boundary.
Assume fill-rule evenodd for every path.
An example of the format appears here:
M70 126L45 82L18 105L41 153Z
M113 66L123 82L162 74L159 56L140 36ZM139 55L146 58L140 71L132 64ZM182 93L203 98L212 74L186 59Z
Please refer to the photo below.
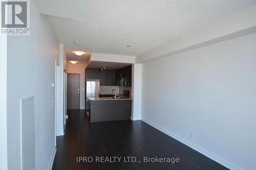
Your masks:
M7 36L0 37L0 169L7 169Z

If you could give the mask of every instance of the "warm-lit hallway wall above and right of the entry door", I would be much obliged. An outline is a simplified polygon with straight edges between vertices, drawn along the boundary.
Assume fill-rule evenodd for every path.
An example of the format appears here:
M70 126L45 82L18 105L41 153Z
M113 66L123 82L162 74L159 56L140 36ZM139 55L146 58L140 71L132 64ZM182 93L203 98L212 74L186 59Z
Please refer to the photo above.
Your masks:
M71 64L67 63L67 72L68 73L79 73L80 74L80 109L85 109L86 103L86 67L84 64L76 63Z

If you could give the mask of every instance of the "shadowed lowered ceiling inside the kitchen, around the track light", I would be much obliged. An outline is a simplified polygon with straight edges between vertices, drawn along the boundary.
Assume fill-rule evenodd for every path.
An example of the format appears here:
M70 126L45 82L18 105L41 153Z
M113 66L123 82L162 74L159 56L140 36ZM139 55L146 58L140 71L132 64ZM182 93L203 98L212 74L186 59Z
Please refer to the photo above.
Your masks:
M103 62L103 61L91 61L87 68L98 68L100 69L103 65L106 64L106 69L119 69L131 64L129 63L114 63L114 62Z

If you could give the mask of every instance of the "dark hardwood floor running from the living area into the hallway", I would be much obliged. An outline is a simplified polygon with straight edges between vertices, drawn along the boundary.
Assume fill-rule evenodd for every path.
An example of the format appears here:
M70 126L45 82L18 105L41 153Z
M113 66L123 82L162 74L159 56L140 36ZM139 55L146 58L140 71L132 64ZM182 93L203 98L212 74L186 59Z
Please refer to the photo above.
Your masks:
M141 120L90 124L85 110L69 110L68 115L52 169L228 169ZM79 156L94 161L77 162ZM97 156L122 158L116 163L95 163ZM141 162L125 163L125 156ZM179 158L179 162L144 163L143 157Z

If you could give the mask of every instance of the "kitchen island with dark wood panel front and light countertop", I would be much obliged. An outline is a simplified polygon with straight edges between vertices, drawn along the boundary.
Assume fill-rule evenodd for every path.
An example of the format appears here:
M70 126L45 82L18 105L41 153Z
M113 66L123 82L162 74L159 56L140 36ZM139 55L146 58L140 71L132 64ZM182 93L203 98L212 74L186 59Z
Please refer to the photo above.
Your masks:
M131 119L132 98L89 98L90 122Z

